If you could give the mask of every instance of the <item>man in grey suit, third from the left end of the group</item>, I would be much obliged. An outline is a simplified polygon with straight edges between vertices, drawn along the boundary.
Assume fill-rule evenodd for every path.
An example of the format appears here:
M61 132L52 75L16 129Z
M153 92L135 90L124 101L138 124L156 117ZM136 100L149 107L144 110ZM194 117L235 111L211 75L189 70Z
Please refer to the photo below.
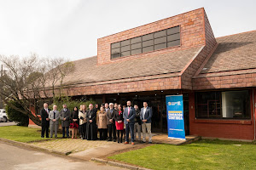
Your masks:
M67 105L62 105L63 109L60 113L60 119L61 119L61 127L62 127L62 138L65 138L65 128L67 133L67 138L69 138L69 119L70 119L70 111L67 109Z

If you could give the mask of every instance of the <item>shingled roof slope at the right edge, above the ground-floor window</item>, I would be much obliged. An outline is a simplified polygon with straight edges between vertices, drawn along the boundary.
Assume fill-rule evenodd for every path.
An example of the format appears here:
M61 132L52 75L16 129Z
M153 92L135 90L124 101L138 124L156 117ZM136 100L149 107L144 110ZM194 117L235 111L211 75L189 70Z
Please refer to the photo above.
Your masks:
M218 37L218 47L200 74L256 68L256 31ZM224 73L225 74L225 73ZM200 75L199 75L200 76Z

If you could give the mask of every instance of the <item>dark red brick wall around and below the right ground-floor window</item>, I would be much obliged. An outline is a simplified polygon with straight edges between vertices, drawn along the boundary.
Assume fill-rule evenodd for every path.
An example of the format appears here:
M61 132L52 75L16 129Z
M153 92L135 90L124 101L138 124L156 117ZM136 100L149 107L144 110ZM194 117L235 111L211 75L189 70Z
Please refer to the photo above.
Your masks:
M254 92L256 90L254 89ZM256 95L254 94L254 98ZM251 95L251 101L253 95ZM195 119L195 93L189 94L189 133L202 137L224 139L247 139L254 138L253 101L251 102L251 120L209 120Z

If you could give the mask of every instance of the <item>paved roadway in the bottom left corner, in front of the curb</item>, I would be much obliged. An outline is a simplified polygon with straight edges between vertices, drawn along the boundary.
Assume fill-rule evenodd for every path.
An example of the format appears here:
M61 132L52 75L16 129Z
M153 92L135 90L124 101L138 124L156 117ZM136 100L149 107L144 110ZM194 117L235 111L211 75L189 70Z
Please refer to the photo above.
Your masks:
M69 156L55 156L44 152L28 150L0 142L0 169L10 170L77 170L77 169L123 169L93 161L80 161Z

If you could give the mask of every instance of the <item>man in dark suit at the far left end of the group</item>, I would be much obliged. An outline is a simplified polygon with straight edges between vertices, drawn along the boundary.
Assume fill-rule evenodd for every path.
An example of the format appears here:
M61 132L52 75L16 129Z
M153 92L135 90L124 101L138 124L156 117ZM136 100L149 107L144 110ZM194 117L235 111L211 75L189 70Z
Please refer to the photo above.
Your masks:
M40 111L42 123L41 138L44 138L44 132L46 133L46 138L49 138L49 111L48 104L44 103L44 108Z

